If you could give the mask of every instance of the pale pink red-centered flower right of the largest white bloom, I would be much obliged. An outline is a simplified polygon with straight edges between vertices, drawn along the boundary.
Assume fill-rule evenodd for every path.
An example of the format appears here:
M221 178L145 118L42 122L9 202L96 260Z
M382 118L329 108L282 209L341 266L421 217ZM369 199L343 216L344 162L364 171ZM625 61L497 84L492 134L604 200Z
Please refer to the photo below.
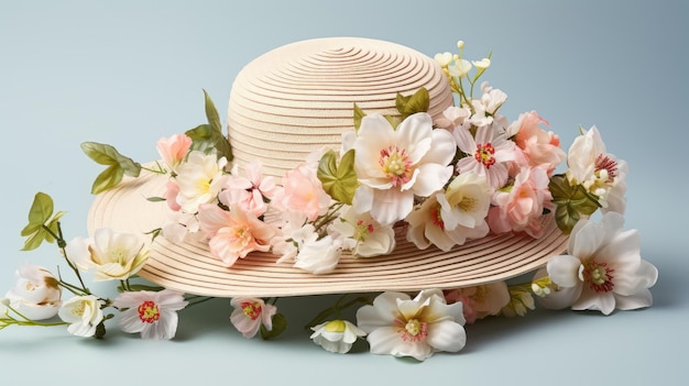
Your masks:
M495 135L492 124L477 129L475 139L463 128L457 128L452 134L459 150L469 155L457 162L460 174L472 172L485 176L492 190L507 183L510 162L516 157L514 142L505 140L504 135Z

